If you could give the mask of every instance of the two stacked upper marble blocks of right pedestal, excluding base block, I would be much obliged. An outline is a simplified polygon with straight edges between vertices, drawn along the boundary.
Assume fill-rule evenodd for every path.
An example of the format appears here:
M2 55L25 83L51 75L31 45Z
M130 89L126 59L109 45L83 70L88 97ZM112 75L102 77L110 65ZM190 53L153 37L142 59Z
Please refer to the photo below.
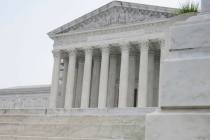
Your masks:
M160 106L210 105L210 15L189 18L171 29L171 51L162 62Z

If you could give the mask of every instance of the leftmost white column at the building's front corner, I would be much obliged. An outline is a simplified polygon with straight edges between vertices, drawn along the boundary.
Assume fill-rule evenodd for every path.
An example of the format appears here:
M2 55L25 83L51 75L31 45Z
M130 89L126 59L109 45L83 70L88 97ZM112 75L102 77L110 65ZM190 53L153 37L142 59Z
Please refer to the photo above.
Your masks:
M52 108L52 109L56 108L56 98L57 98L58 87L59 87L61 54L59 51L53 51L53 56L54 56L54 64L53 64L50 99L49 99L49 108Z

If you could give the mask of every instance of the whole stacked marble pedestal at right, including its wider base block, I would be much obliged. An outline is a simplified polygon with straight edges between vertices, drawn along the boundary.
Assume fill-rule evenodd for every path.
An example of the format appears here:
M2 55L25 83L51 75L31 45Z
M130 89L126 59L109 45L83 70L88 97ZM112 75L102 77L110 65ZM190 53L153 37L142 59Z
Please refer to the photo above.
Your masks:
M210 139L209 37L207 13L171 28L170 52L161 62L161 109L146 117L146 140Z

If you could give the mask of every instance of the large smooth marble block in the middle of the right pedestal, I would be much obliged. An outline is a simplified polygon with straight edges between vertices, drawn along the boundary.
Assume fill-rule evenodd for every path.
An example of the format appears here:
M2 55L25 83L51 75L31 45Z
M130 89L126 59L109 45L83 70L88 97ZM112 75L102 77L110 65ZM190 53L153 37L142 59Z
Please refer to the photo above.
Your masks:
M160 106L210 106L210 56L202 57L164 61Z

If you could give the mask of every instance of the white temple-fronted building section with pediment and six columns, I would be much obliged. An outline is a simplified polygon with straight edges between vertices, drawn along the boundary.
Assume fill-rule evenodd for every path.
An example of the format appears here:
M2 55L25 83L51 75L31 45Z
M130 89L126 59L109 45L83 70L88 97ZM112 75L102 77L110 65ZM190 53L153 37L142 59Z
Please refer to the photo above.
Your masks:
M174 11L114 1L51 31L49 107L157 107L160 61Z

